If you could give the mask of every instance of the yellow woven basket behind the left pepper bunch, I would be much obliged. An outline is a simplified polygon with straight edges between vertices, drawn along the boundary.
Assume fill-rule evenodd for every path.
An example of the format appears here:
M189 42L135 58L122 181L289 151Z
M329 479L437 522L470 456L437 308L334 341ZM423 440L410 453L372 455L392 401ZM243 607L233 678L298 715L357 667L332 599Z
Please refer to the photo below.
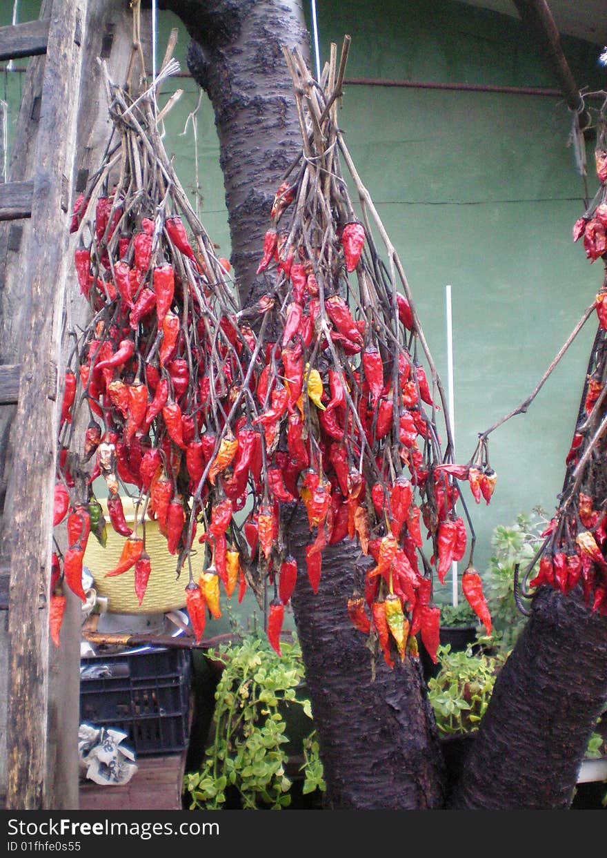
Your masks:
M150 555L152 571L147 582L146 595L141 606L135 595L135 573L132 569L122 575L106 578L105 572L114 569L123 550L124 536L111 527L105 500L99 498L107 521L107 545L105 548L93 535L87 542L84 565L94 578L97 595L108 601L110 613L166 613L185 606L187 576L176 577L177 556L166 548L166 538L158 528L158 522L146 518L146 551ZM123 498L124 517L129 524L135 520L135 510L129 498Z

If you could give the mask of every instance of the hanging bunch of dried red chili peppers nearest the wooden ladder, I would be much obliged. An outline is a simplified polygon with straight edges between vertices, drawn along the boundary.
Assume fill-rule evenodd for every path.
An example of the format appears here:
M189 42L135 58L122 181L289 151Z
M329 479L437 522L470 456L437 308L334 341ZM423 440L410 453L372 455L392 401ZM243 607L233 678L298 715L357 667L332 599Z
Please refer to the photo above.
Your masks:
M67 521L67 540L63 550L56 540L53 588L60 595L65 583L85 598L88 536L106 538L100 483L109 524L125 538L105 574L133 575L145 607L154 575L146 521L156 520L177 574L188 563L186 599L200 637L205 611L219 615L219 581L227 595L238 587L239 599L246 587L249 558L241 559L232 515L249 474L261 483L250 381L261 356L239 321L230 265L216 257L159 140L152 92L135 104L113 85L111 95L120 146L76 201L72 221L75 273L93 318L74 334L64 374L54 520L62 529ZM133 523L124 498L135 506ZM58 640L58 610L53 617Z

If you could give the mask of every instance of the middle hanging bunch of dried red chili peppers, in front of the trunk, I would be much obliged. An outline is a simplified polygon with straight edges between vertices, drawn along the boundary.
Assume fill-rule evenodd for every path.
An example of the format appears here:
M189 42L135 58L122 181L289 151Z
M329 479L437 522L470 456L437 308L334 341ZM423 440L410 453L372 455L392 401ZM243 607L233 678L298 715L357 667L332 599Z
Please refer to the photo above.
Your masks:
M354 213L333 93L310 84L301 57L285 56L303 128L319 131L304 136L297 172L274 195L257 268L267 289L258 305L273 308L274 324L263 336L265 365L255 387L253 427L262 429L263 455L244 532L262 574L275 586L277 579L275 622L298 578L318 591L324 548L349 537L367 562L347 606L353 625L389 664L417 652L418 631L436 658L432 569L444 582L467 543L455 480L469 480L472 471L472 492L489 503L495 473L486 445L469 466L445 463L435 402L440 397L444 408L442 388L412 302L400 291L404 283L390 275ZM300 570L281 516L297 501L310 526ZM466 595L490 628L478 588Z

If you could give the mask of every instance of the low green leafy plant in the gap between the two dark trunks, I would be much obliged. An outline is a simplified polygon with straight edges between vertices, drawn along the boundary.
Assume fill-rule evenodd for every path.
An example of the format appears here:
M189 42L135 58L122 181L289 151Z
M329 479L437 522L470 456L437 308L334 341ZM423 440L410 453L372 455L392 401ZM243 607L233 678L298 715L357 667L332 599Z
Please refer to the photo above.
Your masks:
M445 735L470 733L478 729L505 656L475 655L472 647L452 652L447 644L439 646L438 658L441 669L428 682L436 726Z

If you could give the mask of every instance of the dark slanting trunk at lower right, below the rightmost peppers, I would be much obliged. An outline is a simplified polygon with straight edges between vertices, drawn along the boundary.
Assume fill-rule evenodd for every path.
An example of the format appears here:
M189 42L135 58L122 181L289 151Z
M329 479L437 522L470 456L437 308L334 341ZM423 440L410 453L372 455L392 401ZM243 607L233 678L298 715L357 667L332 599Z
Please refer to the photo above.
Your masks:
M607 698L607 618L545 589L496 681L454 795L463 810L569 807Z

